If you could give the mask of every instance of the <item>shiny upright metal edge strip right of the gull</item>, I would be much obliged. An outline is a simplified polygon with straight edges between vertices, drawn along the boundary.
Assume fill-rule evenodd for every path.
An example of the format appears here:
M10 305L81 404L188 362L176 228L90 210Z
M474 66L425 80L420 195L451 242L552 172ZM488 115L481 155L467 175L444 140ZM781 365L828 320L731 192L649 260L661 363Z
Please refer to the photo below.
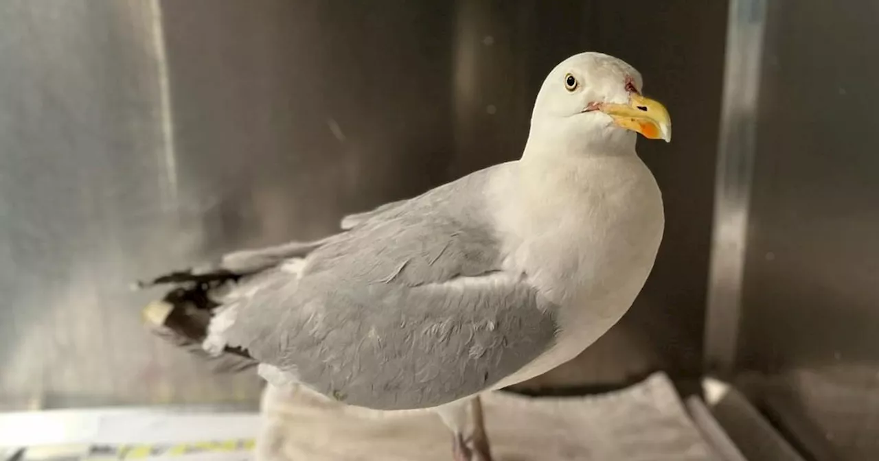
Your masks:
M705 367L736 363L766 0L730 0L705 321Z

